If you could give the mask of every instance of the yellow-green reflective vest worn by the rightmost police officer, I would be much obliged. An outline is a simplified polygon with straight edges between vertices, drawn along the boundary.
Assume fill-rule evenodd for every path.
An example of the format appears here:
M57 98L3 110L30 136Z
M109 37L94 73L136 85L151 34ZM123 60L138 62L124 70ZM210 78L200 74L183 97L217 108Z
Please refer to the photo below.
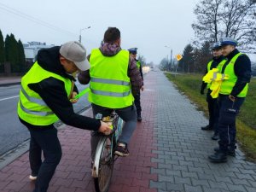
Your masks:
M229 76L229 79L224 80L223 83L220 86L219 93L223 95L230 95L231 91L233 90L233 87L236 84L237 76L235 74L234 65L236 63L237 58L242 55L241 53L236 54L229 64L224 69L224 74ZM247 96L247 90L248 90L248 84L241 90L241 92L237 95L238 97L245 97Z

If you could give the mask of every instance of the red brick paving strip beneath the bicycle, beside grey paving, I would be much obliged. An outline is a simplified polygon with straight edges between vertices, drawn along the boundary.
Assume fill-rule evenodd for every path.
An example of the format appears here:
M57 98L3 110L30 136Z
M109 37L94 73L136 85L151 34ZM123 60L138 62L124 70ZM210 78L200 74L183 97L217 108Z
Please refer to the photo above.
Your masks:
M148 74L150 76L150 73ZM147 78L146 87L155 84ZM154 91L144 90L142 94L143 122L137 124L137 130L130 144L131 155L119 158L114 165L112 183L109 192L156 192L149 189L149 181L157 181L157 175L150 173L154 127ZM85 115L90 115L89 110ZM90 173L90 132L70 126L59 131L62 146L62 159L54 177L49 183L49 192L93 192L94 186ZM0 171L1 192L29 192L34 183L28 176L30 167L28 153L21 155L14 162Z

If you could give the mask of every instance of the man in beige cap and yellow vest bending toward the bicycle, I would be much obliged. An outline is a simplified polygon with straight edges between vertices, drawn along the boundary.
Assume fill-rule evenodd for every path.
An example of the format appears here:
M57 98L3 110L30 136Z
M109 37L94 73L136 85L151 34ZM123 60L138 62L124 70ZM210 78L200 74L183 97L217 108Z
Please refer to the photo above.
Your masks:
M73 111L70 100L77 95L78 89L73 83L72 73L89 67L84 46L71 41L62 46L40 49L37 61L21 79L18 115L31 135L29 162L32 173L29 178L36 180L33 192L47 191L61 160L61 143L54 126L58 119L84 130L111 132L106 123Z

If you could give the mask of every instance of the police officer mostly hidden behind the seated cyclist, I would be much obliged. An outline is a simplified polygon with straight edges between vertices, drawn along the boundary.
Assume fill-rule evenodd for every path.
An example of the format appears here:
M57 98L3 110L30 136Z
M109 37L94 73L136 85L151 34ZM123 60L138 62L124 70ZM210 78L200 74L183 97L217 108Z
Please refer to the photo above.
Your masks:
M137 68L139 69L139 71L141 73L141 76L142 76L142 79L143 79L143 69L142 69L141 62L136 59L136 57L137 57L137 48L131 48L131 49L128 49L128 50L130 52L131 57L136 60ZM142 86L141 90L144 90L143 86ZM142 121L143 119L142 119L141 93L140 92L138 92L137 95L134 96L134 103L135 103L135 106L136 106L136 109L137 109L137 121Z

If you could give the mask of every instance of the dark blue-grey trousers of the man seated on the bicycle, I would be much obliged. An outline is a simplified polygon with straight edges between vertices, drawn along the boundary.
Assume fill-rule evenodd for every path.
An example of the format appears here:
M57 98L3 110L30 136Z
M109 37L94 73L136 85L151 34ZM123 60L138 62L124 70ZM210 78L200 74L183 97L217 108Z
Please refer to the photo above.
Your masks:
M91 104L93 115L96 116L97 113L102 113L103 117L108 116L112 113L113 109L104 108L95 104ZM135 131L137 126L137 113L136 107L134 105L127 108L115 109L119 117L125 121L123 131L119 137L119 143L129 144L133 131ZM91 147L91 159L94 160L96 147L101 137L98 136L96 131L91 132L90 147Z

